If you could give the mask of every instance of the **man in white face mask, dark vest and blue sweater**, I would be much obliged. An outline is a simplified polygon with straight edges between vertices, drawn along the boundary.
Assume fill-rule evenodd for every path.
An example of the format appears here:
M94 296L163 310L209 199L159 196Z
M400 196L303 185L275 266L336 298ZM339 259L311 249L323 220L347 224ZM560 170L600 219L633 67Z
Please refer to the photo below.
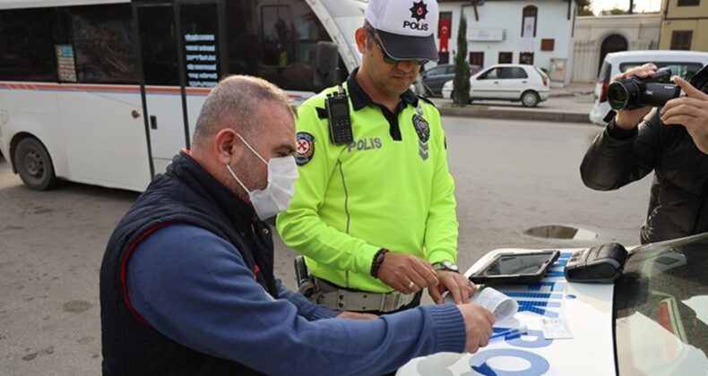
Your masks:
M476 304L377 319L310 303L274 278L263 219L288 205L298 177L282 90L253 77L221 81L192 144L108 242L103 374L377 374L487 345L494 316Z

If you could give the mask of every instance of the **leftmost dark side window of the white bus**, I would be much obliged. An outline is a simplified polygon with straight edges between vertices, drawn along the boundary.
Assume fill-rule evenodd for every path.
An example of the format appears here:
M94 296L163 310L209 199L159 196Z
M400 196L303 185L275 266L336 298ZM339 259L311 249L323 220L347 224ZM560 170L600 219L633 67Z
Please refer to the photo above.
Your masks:
M0 80L56 81L49 12L0 11Z

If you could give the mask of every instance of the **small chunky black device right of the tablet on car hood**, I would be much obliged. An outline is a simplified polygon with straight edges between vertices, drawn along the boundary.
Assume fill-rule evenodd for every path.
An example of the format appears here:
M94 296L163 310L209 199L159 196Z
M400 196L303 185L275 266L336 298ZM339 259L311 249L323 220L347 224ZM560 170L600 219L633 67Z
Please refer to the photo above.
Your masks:
M627 252L622 244L609 243L578 251L566 264L568 282L613 283L622 276Z

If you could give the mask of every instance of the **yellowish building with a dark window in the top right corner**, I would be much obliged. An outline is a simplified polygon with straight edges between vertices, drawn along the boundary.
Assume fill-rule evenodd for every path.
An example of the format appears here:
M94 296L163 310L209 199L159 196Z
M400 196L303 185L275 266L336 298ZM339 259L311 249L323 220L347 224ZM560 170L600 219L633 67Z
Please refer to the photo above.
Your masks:
M708 0L662 0L659 47L708 52Z

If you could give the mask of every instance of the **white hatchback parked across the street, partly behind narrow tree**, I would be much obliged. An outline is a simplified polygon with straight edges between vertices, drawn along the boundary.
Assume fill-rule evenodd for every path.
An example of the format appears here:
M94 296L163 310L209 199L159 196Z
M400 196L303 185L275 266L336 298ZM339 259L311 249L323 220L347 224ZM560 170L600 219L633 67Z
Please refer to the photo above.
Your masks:
M443 85L443 98L452 98L453 81ZM496 64L470 77L470 100L492 99L521 101L536 107L548 99L548 76L526 64Z

